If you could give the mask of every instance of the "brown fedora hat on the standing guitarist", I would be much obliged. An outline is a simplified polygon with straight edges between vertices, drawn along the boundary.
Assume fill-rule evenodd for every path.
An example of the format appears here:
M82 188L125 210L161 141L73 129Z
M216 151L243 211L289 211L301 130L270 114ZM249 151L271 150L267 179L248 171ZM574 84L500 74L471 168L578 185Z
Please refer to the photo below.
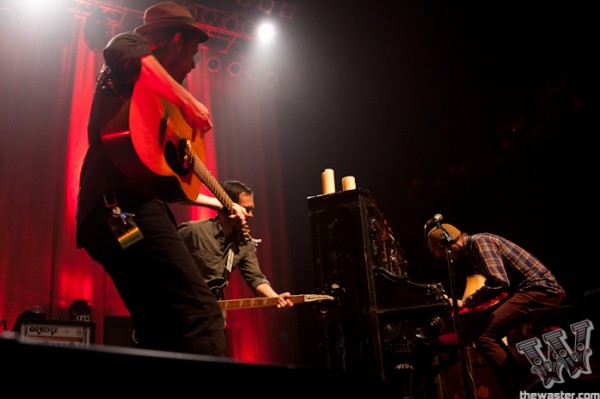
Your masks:
M208 40L208 34L200 28L190 10L172 1L165 1L149 7L144 12L144 24L133 31L143 35L147 32L166 27L188 28L200 37L200 42Z

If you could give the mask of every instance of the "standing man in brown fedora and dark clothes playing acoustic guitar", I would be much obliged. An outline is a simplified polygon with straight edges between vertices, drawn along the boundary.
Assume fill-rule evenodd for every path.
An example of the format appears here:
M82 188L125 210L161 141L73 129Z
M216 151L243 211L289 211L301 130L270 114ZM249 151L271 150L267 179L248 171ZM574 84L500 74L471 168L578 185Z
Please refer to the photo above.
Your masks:
M172 201L163 187L127 170L129 163L114 162L106 139L107 131L129 130L115 121L133 108L134 87L180 109L193 131L209 131L209 110L182 85L208 38L187 8L161 2L145 10L143 25L116 35L103 50L81 170L77 246L111 277L141 348L226 356L220 306L177 233ZM222 208L205 195L183 202ZM246 211L232 208L232 220L243 226Z

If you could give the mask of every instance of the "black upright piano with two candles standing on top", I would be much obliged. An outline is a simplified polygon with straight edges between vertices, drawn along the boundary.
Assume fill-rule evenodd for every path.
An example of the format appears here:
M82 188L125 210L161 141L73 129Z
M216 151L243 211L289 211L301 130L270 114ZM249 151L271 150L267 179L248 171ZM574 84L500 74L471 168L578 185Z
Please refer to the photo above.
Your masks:
M315 278L335 300L319 312L324 366L378 375L411 397L429 385L437 339L448 326L440 283L413 282L369 192L308 198Z

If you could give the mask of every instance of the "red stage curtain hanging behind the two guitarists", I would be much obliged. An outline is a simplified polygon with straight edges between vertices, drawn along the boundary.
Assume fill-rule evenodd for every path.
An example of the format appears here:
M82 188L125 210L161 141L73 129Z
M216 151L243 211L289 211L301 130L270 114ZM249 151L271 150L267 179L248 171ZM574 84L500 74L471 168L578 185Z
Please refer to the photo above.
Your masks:
M18 21L0 25L0 319L10 330L19 314L39 305L47 318L66 320L69 305L83 299L92 307L96 343L103 344L104 317L127 310L102 268L75 247L74 235L87 116L102 59L87 46L83 21L69 13L61 18L31 30ZM242 180L255 190L251 228L263 239L263 270L275 289L291 290L273 92L245 76L210 72L209 52L201 51L187 81L215 122L205 140L206 164L219 180ZM178 222L214 214L173 208ZM228 291L228 298L252 295L237 277ZM293 309L229 312L231 356L296 363L294 320Z

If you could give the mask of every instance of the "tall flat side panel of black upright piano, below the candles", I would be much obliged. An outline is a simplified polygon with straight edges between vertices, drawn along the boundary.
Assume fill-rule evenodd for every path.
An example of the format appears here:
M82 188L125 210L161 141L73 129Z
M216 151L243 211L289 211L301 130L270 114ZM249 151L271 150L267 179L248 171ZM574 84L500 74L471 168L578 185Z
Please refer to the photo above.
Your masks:
M320 313L325 366L383 375L372 233L385 221L362 189L309 197L308 205L316 284L336 298Z

